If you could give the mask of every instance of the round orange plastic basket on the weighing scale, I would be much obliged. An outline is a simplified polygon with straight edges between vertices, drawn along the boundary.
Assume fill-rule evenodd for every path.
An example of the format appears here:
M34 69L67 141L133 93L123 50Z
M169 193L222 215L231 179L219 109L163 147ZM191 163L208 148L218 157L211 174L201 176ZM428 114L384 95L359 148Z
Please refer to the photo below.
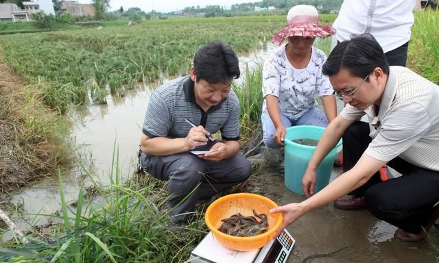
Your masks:
M206 221L207 227L212 231L213 236L215 236L224 247L236 251L250 251L263 247L274 237L276 230L281 227L283 221L282 214L270 214L268 212L271 208L276 207L277 205L274 201L261 195L249 193L226 195L209 205L204 220ZM244 216L253 216L253 209L258 214L267 214L268 231L265 233L257 236L239 237L230 236L218 230L222 225L222 219L237 213L241 213Z

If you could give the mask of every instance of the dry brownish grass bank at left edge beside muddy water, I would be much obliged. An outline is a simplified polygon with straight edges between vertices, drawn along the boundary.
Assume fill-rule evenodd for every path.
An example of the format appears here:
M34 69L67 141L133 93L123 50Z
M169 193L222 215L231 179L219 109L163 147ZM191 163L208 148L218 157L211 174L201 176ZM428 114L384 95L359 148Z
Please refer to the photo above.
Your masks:
M71 123L41 103L42 97L42 90L34 86L5 86L1 90L0 114L14 130L10 154L12 160L19 160L23 171L28 171L14 175L22 178L16 186L29 184L29 180L54 173L58 167L71 163L71 142L67 140ZM7 176L2 177L5 182Z

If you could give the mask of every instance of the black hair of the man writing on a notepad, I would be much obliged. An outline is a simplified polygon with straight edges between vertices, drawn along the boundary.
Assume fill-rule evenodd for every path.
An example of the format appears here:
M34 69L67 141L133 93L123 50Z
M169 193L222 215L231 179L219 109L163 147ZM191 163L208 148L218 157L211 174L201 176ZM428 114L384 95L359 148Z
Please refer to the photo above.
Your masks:
M235 51L230 45L219 40L198 49L193 58L193 68L197 82L204 79L210 84L229 82L230 79L237 79L241 74Z

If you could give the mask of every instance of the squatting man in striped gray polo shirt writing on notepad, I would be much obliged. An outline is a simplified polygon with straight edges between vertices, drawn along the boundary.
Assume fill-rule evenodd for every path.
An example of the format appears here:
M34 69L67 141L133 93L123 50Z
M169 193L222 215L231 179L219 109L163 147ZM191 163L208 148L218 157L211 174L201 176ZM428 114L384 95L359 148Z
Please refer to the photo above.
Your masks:
M195 53L189 76L163 84L151 95L141 160L147 173L169 180L173 223L183 223L198 201L250 177L250 163L239 152L239 101L231 90L239 74L230 45L213 41ZM218 131L222 140L209 140ZM190 152L209 149L211 153Z

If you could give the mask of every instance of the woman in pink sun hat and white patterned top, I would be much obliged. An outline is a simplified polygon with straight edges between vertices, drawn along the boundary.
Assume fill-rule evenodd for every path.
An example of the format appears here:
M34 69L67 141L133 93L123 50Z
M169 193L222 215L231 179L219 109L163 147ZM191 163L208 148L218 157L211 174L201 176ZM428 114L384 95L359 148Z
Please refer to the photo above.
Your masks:
M318 12L312 5L296 5L288 12L287 26L274 34L272 43L280 47L265 60L262 73L261 119L267 147L282 147L287 127L327 127L337 115L334 90L328 77L322 75L327 57L313 47L317 36L326 38L334 33L331 26L318 25ZM324 112L317 108L316 95Z

